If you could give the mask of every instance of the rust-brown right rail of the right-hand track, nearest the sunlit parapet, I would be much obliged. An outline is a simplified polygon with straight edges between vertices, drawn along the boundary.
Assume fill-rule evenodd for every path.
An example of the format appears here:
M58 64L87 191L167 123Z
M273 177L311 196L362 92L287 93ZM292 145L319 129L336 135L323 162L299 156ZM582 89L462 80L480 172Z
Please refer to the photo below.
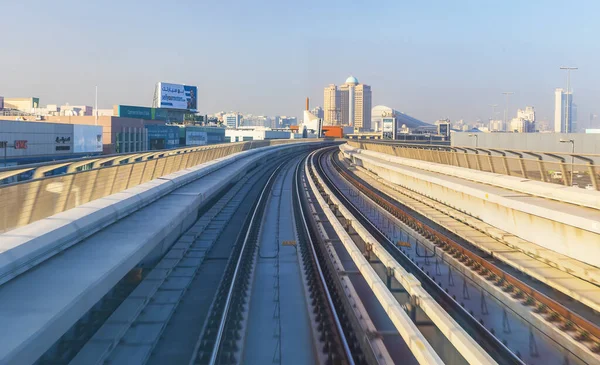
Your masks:
M586 320L576 312L568 309L556 300L544 295L543 293L540 293L515 276L505 272L485 258L469 250L465 246L457 243L427 224L424 224L403 209L400 209L394 204L390 203L390 201L393 201L392 198L385 196L384 193L374 192L372 189L364 186L360 181L356 180L350 174L344 171L344 169L341 168L337 162L334 161L333 165L347 181L372 199L376 204L406 224L415 227L417 231L422 233L428 239L432 240L436 246L439 246L445 251L450 251L450 253L455 255L455 257L461 257L467 266L471 267L471 269L476 271L479 275L486 276L488 280L494 280L503 287L512 288L511 291L515 294L518 293L521 301L525 305L533 307L534 304L537 303L535 310L541 315L546 314L545 318L547 321L562 321L565 328L576 330L576 335L580 339L593 342L591 351L596 353L600 352L600 327ZM576 327L579 328L578 331Z

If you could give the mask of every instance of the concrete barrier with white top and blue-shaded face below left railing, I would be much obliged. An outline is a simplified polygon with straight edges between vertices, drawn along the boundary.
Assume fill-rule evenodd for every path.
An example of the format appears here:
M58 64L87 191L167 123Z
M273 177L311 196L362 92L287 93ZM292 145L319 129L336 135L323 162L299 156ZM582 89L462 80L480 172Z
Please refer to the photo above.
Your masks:
M217 158L2 233L0 284L175 189L237 161L253 155L265 158L281 148L285 147L264 147Z

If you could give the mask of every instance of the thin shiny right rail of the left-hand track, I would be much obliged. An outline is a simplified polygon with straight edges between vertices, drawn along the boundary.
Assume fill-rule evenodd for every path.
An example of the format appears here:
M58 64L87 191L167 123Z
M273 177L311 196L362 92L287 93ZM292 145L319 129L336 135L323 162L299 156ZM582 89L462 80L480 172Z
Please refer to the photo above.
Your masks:
M306 215L304 213L304 208L302 208L302 198L300 195L300 189L298 187L299 180L300 180L300 172L299 171L300 171L300 166L303 165L304 160L307 158L308 157L305 157L302 161L300 161L300 163L298 165L296 165L296 171L294 172L296 199L297 199L298 207L299 207L299 211L300 211L300 220L302 222L302 228L304 229L304 232L306 233L306 239L308 241L307 242L308 247L310 248L310 252L312 254L313 262L315 263L315 267L319 274L318 276L319 276L319 280L321 282L321 287L325 293L325 297L327 299L327 304L329 305L329 308L330 308L330 314L335 323L335 328L336 328L336 332L338 334L338 338L340 339L340 342L344 349L344 354L346 356L348 364L354 365L354 359L353 359L352 353L350 351L350 346L348 345L348 340L346 339L346 335L344 334L344 330L342 329L342 324L341 324L338 314L335 310L335 305L333 304L331 293L329 292L329 288L327 286L325 276L323 275L323 271L321 269L321 264L319 263L317 252L315 250L315 243L313 242L313 240L309 234L310 229L308 228L308 224L306 222Z

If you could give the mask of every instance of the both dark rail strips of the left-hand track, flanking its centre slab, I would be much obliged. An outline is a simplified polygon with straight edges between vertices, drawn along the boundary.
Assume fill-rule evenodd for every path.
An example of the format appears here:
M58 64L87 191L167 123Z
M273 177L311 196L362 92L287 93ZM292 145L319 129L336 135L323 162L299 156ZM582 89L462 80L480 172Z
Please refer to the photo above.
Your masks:
M203 334L196 346L194 364L235 364L241 361L241 351L238 342L249 333L241 325L245 310L250 302L249 294L252 280L253 265L256 263L255 255L259 249L259 236L263 216L267 213L268 196L274 195L273 188L276 176L285 169L282 163L271 174L262 189L252 214L242 229L245 235L240 239L239 249L232 256L235 265L230 265L228 273L224 276L219 294L212 305L211 319L207 323ZM291 164L288 163L290 168ZM319 338L314 341L317 351L322 351L326 364L354 365L355 361L351 352L342 324L334 304L337 294L330 289L331 281L327 279L325 270L322 269L315 243L311 237L310 221L307 220L302 205L304 198L300 193L298 182L300 170L298 163L294 169L293 179L293 210L294 223L297 228L297 246L301 251L304 262L304 271L310 283L310 306L317 312L317 332ZM279 192L279 196L281 192ZM279 211L279 209L278 209ZM278 212L279 213L279 212ZM278 227L276 228L278 229ZM321 258L322 260L322 258ZM233 262L232 262L233 263ZM217 320L218 319L218 320ZM281 346L281 344L279 345Z

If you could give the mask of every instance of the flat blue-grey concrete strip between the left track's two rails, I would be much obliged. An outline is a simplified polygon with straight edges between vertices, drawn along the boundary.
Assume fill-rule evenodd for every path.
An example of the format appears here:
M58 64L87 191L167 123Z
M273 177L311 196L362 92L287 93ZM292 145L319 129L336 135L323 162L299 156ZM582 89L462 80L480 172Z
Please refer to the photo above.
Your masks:
M313 339L292 210L292 179L304 156L292 159L280 172L261 223L254 278L243 335L242 363L314 364L320 355ZM313 345L313 342L317 342Z

